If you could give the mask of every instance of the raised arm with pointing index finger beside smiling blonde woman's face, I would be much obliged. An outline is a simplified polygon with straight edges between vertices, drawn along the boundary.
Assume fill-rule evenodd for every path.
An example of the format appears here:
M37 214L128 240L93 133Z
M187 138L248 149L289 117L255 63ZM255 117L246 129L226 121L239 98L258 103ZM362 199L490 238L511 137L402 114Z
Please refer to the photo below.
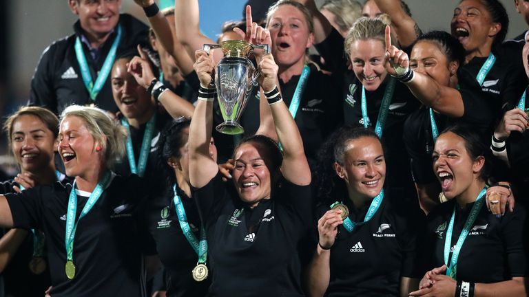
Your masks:
M452 87L439 85L433 78L410 68L408 54L391 45L391 30L386 26L386 71L397 77L422 104L452 118L464 115L461 93Z

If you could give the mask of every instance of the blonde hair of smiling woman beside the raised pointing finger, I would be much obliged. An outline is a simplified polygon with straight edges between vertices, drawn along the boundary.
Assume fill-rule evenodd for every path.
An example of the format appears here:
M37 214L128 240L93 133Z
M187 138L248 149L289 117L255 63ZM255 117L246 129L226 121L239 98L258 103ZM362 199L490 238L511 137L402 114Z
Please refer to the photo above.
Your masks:
M375 19L368 17L357 19L345 37L344 50L346 55L349 56L349 50L355 41L375 39L382 41L384 45L386 43L386 25L391 25L391 19L387 14L381 14ZM391 43L394 43L395 39L391 40Z

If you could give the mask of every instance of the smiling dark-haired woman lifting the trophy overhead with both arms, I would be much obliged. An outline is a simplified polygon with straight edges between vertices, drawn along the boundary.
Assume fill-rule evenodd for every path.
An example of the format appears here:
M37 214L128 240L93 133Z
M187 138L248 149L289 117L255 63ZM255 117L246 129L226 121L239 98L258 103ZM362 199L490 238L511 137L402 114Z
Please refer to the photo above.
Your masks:
M258 32L269 42L266 30ZM207 234L213 269L209 294L303 296L298 244L311 223L311 173L298 127L276 87L278 66L271 54L258 56L258 65L267 98L262 105L275 129L263 127L266 134L238 144L233 182L225 183L207 149L215 91L205 86L214 62L203 50L196 54L201 88L189 129L189 180ZM282 151L267 136L276 133Z

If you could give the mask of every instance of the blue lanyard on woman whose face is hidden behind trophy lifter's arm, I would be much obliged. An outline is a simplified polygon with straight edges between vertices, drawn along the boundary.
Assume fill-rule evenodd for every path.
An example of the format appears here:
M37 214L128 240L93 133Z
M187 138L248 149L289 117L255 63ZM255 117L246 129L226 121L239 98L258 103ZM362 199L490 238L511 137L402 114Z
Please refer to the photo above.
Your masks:
M193 250L195 250L196 254L198 254L198 263L206 263L207 259L207 241L206 241L206 230L204 226L200 227L200 242L196 239L195 234L191 231L191 228L189 228L189 223L187 222L187 216L185 215L185 209L182 204L182 201L180 201L180 197L176 193L176 184L173 186L174 191L174 207L176 208L176 216L178 217L178 222L180 223L180 228L182 228L182 232L184 233L185 238L193 247Z

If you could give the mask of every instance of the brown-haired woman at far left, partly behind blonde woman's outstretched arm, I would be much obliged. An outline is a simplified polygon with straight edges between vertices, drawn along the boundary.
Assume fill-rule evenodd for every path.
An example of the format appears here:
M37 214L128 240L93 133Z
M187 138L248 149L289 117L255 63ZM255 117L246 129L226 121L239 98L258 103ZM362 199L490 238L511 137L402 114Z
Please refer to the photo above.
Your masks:
M21 192L38 185L68 181L55 168L59 119L42 107L21 107L4 124L8 143L20 173L0 183L0 193ZM0 230L2 234L0 272L4 281L2 294L42 296L50 287L50 271L45 256L45 239L40 230ZM23 285L21 280L32 283Z

